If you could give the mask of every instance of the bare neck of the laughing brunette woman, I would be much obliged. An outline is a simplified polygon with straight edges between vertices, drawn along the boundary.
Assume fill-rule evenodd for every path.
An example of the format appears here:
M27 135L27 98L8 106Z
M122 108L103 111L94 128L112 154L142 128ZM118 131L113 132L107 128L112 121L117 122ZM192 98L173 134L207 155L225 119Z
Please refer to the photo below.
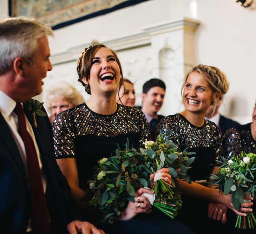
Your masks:
M102 115L114 114L117 109L116 95L110 96L93 96L86 105L95 113Z

